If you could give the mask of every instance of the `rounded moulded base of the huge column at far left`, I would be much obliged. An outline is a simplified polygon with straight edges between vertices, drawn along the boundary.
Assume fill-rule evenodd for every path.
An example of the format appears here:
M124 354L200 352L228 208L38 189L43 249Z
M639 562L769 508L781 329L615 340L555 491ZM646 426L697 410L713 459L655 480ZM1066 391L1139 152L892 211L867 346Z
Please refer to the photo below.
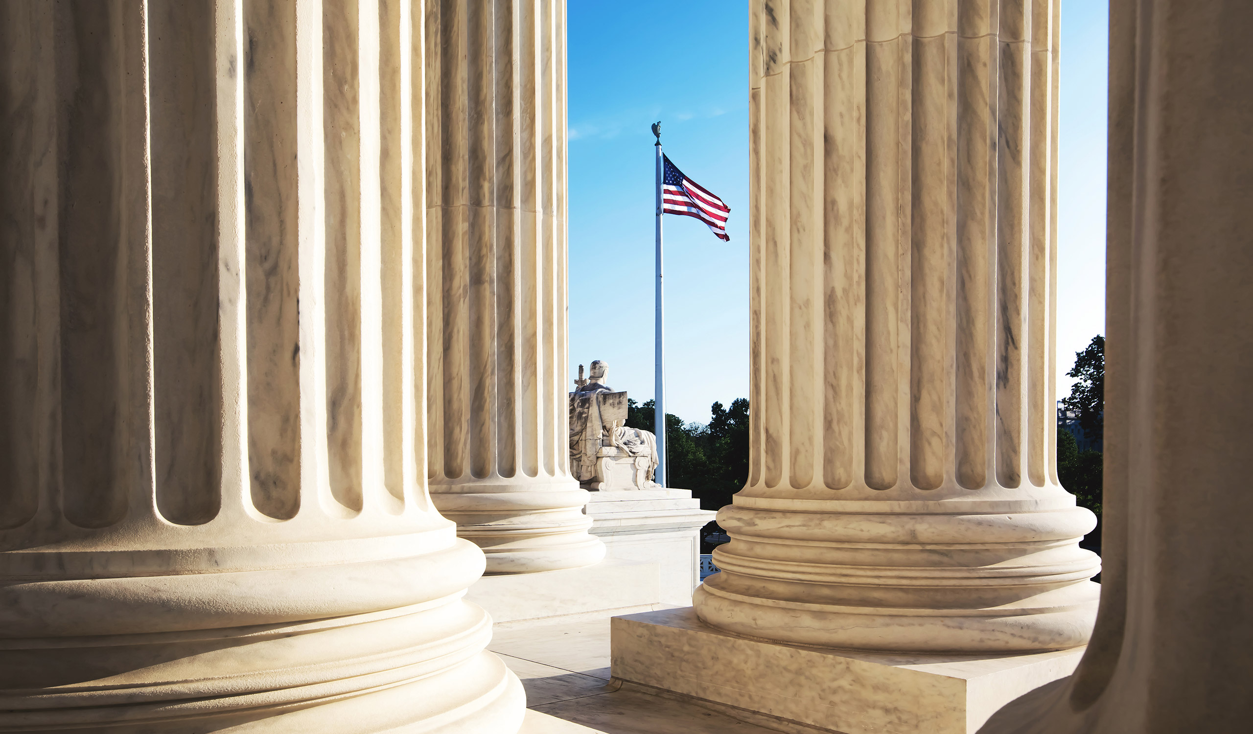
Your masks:
M462 599L482 554L451 536L445 525L401 536L444 549L327 566L11 574L0 584L0 731L516 731L525 693L485 650L491 618ZM366 540L341 550L386 547ZM325 551L279 549L254 560ZM115 556L101 556L107 572Z

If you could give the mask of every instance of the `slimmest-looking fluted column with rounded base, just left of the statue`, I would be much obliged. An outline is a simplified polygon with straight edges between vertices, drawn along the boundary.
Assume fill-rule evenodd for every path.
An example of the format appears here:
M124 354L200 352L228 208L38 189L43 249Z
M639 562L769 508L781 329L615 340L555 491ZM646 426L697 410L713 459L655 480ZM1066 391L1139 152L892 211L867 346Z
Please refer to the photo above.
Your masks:
M432 0L432 499L489 574L586 566L569 471L564 0Z

